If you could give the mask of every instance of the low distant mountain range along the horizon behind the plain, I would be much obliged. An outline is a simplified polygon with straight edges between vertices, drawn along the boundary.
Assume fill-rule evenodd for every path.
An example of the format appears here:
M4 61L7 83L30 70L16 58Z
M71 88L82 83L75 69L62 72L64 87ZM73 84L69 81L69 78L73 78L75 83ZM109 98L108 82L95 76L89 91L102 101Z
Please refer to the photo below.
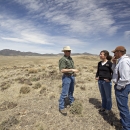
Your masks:
M58 55L63 55L63 53L39 54L39 53L34 53L34 52L21 52L21 51L16 51L16 50L3 49L3 50L0 50L0 55L2 56L58 56ZM93 55L93 54L84 52L84 53L72 53L72 55Z

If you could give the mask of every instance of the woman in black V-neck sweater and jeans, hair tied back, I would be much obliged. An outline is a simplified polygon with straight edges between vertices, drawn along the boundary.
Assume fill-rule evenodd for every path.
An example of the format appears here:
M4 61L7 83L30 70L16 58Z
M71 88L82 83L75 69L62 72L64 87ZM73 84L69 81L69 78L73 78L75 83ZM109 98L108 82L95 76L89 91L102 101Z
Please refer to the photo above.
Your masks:
M112 56L109 55L107 50L100 52L101 61L98 63L96 80L98 80L99 91L102 98L102 107L99 112L104 112L104 114L109 114L112 108L111 99L111 88L112 88Z

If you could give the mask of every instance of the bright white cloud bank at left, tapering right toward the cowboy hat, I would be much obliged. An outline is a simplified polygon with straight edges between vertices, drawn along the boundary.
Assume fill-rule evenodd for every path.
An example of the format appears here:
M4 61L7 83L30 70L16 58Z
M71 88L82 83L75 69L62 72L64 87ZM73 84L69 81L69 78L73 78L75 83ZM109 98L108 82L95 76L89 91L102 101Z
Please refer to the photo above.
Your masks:
M14 16L3 14L0 22L1 29L4 29L6 32L11 32L9 34L0 34L0 37L7 41L46 45L85 44L82 42L82 40L77 38L71 38L67 36L52 36L46 34L28 19L17 19ZM78 24L77 27L79 27Z

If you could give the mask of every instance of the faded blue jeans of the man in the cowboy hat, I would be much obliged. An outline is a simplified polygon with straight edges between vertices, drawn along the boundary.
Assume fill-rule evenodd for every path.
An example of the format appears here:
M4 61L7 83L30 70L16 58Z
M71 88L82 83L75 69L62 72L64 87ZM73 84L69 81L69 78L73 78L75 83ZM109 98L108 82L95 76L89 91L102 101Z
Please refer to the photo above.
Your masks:
M62 92L59 99L59 109L64 109L66 97L69 97L70 104L74 102L73 92L74 92L74 76L62 76Z

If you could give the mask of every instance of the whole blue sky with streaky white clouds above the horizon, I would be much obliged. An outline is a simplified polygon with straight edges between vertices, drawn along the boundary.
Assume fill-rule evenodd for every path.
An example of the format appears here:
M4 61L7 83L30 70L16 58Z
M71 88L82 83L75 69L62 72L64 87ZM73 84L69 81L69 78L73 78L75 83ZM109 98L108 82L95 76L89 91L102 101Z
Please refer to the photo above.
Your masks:
M0 50L130 54L130 0L0 0Z

